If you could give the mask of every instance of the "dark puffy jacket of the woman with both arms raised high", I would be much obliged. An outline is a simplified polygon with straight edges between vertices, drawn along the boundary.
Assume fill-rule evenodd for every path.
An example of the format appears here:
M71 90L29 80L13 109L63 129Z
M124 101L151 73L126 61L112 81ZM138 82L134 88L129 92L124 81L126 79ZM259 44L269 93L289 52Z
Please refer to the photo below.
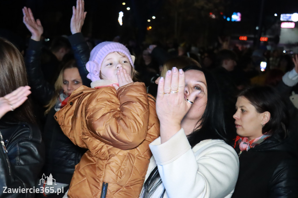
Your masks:
M69 36L69 41L74 51L83 84L90 87L91 81L86 77L88 71L85 66L90 56L89 47L81 33ZM46 105L54 95L55 88L43 78L40 59L41 42L30 40L25 56L29 84L34 98ZM46 175L51 173L58 183L69 184L75 171L75 165L79 163L81 156L86 150L77 147L64 135L54 119L55 113L54 108L51 109L46 117L43 131L43 139L46 145L44 172Z

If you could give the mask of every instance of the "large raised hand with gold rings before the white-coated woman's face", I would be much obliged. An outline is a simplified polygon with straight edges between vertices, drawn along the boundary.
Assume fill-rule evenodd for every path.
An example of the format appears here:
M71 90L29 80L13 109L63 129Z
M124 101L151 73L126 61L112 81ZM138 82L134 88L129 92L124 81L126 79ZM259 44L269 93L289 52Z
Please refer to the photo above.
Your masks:
M184 96L185 76L173 67L165 78L160 78L156 96L156 113L160 121L161 143L166 142L181 128L181 121L192 106L199 91ZM187 102L187 100L189 102Z

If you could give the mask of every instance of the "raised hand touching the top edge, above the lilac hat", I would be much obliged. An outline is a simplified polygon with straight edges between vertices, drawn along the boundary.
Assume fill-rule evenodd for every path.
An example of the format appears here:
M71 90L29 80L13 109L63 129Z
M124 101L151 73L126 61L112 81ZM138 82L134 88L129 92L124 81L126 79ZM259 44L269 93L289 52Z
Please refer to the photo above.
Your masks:
M81 32L87 12L84 12L84 1L77 0L77 7L72 7L72 19L70 20L70 31L72 34Z

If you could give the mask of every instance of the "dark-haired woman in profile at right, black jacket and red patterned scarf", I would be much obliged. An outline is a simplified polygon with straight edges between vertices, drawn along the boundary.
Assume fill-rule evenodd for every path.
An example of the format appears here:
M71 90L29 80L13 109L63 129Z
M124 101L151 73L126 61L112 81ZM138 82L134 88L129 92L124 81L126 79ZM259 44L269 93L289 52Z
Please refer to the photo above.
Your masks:
M232 197L298 197L298 163L287 136L288 111L272 87L239 93L234 114L239 176Z

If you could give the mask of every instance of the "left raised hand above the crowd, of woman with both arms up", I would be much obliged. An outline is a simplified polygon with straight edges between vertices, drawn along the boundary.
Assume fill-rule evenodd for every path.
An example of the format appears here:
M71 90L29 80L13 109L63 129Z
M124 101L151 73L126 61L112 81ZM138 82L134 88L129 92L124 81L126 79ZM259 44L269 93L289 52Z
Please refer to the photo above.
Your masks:
M24 17L23 23L26 25L27 29L31 32L31 39L35 41L40 41L42 33L44 33L44 28L41 25L39 19L34 20L32 11L30 8L24 7L22 9Z

